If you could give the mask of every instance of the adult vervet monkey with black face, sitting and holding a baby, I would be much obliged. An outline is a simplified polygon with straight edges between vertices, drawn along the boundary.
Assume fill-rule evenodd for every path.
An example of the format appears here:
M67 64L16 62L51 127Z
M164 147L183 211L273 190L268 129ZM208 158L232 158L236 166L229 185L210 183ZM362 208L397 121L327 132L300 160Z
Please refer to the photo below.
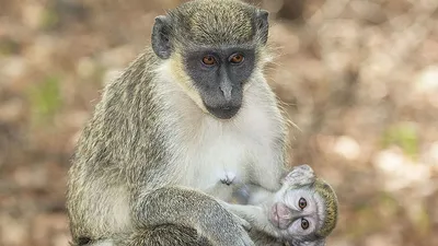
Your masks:
M263 75L267 17L197 0L155 19L151 47L105 86L79 140L73 245L254 245L218 202L231 194L204 189L223 169L261 192L280 188L287 127Z

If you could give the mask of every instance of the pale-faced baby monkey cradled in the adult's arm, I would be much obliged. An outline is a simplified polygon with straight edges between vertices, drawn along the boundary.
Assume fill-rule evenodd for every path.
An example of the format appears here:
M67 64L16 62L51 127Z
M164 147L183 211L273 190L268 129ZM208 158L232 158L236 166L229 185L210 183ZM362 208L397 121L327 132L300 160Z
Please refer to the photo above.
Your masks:
M224 185L237 185L240 200L250 196L251 185L235 184L226 173ZM296 166L281 180L281 188L260 204L224 204L252 225L255 245L323 246L336 226L338 202L333 188L318 178L309 165Z

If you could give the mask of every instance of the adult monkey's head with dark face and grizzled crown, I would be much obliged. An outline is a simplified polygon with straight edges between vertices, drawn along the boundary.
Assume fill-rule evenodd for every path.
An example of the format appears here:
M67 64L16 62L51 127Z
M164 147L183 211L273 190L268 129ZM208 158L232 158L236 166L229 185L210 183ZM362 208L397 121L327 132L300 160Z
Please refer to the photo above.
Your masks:
M204 110L232 118L264 65L268 12L237 0L195 0L155 17L154 54Z

